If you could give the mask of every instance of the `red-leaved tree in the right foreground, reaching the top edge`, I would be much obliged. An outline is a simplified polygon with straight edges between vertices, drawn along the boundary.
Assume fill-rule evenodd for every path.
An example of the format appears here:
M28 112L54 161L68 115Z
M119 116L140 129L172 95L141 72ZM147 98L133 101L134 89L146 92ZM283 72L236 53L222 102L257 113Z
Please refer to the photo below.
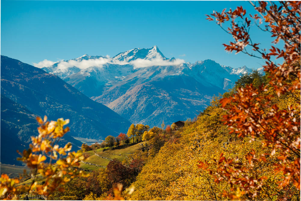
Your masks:
M237 7L233 11L214 12L207 18L215 18L221 27L229 23L227 29L222 28L233 36L234 41L224 44L225 50L262 58L269 80L268 84L261 86L250 83L238 87L233 96L220 100L227 111L224 122L231 133L253 141L260 140L266 149L272 148L268 154L250 150L246 154L249 164L222 154L215 162L216 169L209 168L212 164L208 162L200 162L200 168L213 174L217 183L226 181L231 187L237 187L237 191L225 193L230 199L240 199L241 196L255 199L267 177L249 177L248 174L255 171L257 164L270 159L274 160L274 173L283 173L279 188L295 185L300 190L300 2L251 4L258 14L248 16L246 10ZM260 42L254 42L249 35L252 24L270 33L273 43L281 41L284 47L260 48ZM276 64L274 58L281 58L284 62ZM277 101L282 97L287 100ZM278 199L287 199L287 195L282 196Z

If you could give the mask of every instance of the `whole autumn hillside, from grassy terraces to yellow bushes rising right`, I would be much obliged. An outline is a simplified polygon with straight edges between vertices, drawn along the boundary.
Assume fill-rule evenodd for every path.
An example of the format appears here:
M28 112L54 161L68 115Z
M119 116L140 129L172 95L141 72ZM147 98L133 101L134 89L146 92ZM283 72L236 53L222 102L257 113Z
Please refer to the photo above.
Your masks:
M242 77L232 90L216 97L196 121L186 121L184 126L153 127L142 136L135 137L137 141L142 139L144 142L104 151L98 149L96 153L83 152L87 159L80 162L80 168L89 172L89 176L71 179L62 184L65 191L55 191L49 198L109 200L122 196L126 200L231 200L235 196L243 200L265 200L266 197L270 200L298 200L300 191L297 183L279 186L288 175L275 169L275 162L282 163L283 151L264 146L264 135L240 137L230 132L225 124L229 113L223 106L223 100L233 98L242 89L240 86L250 87L247 85L250 82L258 84L258 87L261 84L268 86L266 78L256 72ZM281 95L273 101L282 110L299 99L299 92ZM275 94L270 88L259 93ZM259 100L254 100L253 104ZM228 102L228 105L232 104ZM299 105L293 107L297 111L296 122L300 108ZM270 112L266 110L263 114ZM295 125L299 124L299 119L297 121ZM132 127L131 132L137 135L139 131ZM126 140L122 136L119 140ZM297 142L298 137L296 132ZM110 139L114 143L118 138L109 137L103 145L112 146ZM299 160L298 152L291 156L296 158L295 161ZM294 160L292 163L295 164ZM29 179L22 184L31 181ZM37 181L42 183L42 177L38 175ZM115 188L119 184L123 189ZM241 193L241 189L246 193Z

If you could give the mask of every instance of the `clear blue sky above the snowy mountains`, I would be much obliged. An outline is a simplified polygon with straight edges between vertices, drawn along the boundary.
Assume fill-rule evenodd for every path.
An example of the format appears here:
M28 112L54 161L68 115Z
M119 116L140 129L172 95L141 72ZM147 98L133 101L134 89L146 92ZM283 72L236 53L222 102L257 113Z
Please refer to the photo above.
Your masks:
M33 64L157 45L167 58L260 68L261 59L225 52L231 36L205 17L240 5L254 13L243 1L1 0L1 55ZM251 35L269 47L267 33L253 27Z

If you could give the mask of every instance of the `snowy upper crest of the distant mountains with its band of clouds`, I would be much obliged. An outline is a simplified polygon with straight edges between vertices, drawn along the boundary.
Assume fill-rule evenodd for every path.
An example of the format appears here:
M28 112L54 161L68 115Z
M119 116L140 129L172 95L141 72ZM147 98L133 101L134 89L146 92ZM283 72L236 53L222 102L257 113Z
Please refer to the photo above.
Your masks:
M83 70L89 67L98 67L103 68L104 64L116 64L116 65L131 65L133 69L137 68L147 68L152 66L177 66L184 65L185 69L192 69L195 65L202 65L207 63L206 66L211 64L218 64L216 61L212 59L206 59L204 61L196 61L194 64L190 62L186 62L183 59L172 58L168 59L164 57L164 55L160 52L158 46L153 46L151 48L135 48L131 50L127 50L125 52L121 52L114 57L103 57L103 56L89 56L87 54L82 55L79 58L67 60L67 61L57 61L52 62L48 60L41 61L35 66L49 67L47 69L48 72L54 71L73 71L71 68L79 68L79 70ZM205 67L206 67L205 66ZM214 65L216 66L216 65ZM220 65L224 70L226 70L229 74L241 75L245 73L249 73L252 70L247 68L246 66L240 68L232 68L230 66ZM216 67L217 68L217 67ZM213 71L213 69L211 69Z

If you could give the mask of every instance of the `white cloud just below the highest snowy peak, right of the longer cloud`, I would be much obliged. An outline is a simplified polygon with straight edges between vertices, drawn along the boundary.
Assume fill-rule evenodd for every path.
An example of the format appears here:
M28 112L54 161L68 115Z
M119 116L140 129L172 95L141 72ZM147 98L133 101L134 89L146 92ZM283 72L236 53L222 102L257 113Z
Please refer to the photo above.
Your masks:
M129 63L134 66L134 68L145 68L150 66L175 66L184 63L183 59L174 59L172 61L163 60L161 57L156 57L151 60L146 59L136 59L134 61L130 61Z

